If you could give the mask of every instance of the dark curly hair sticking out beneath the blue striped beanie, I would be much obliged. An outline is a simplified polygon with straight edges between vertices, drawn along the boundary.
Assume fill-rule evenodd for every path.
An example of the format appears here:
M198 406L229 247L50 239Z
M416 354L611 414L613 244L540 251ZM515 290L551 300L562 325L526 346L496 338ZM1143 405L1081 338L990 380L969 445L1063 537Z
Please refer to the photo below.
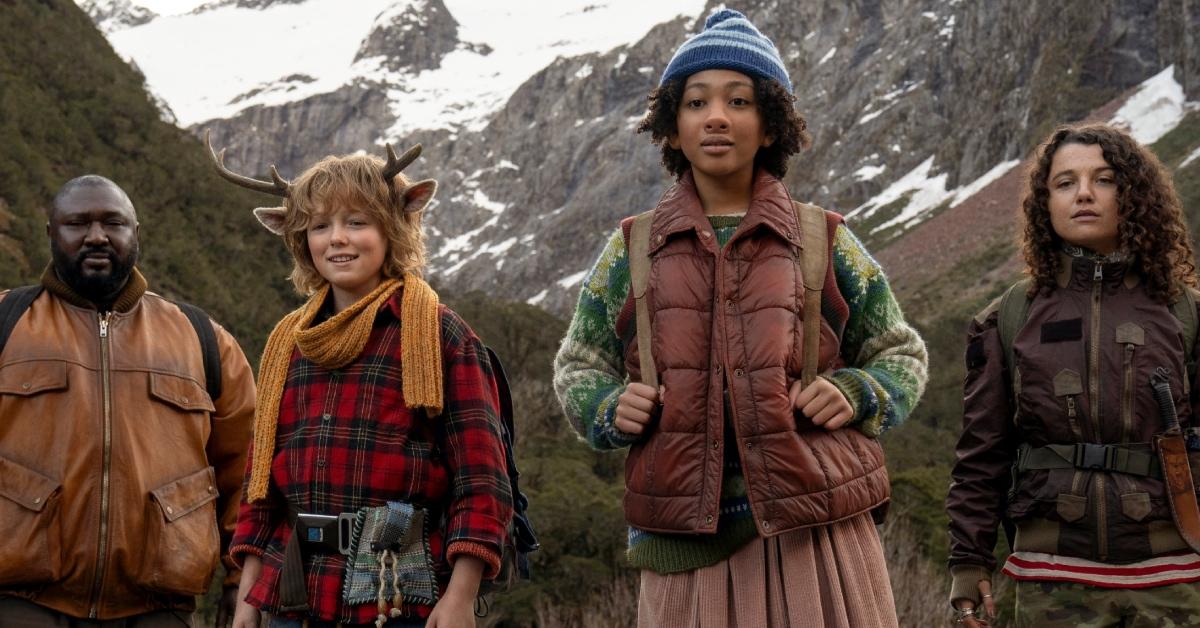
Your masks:
M758 149L754 157L755 168L763 168L776 179L787 173L787 160L800 149L812 144L809 122L796 110L792 96L779 82L750 77L754 80L754 97L762 114L763 131L774 139L769 146ZM671 148L668 139L679 132L676 126L683 100L685 79L670 80L650 92L650 107L637 125L637 132L649 131L650 140L662 149L662 166L676 178L691 168L691 162L679 149Z

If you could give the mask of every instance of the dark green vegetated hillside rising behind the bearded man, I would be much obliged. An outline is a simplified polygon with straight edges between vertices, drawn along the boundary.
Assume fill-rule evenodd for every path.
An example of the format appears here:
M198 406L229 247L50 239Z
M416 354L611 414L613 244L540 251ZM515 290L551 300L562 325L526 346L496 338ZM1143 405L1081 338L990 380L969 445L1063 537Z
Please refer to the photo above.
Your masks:
M102 174L138 210L150 289L208 310L257 363L298 303L286 251L250 211L264 199L217 178L200 142L160 119L143 77L73 2L0 5L0 288L41 275L59 186Z

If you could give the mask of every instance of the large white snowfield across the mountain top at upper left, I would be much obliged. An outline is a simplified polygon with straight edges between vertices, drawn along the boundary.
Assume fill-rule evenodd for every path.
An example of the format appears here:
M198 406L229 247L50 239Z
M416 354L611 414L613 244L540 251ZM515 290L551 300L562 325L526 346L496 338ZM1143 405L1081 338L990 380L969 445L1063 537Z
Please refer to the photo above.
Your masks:
M482 128L554 59L632 44L656 24L704 7L703 0L562 0L538 10L445 0L460 25L458 47L437 68L404 73L389 71L385 58L354 59L380 18L420 8L415 0L304 0L262 8L193 0L77 1L124 1L158 13L144 24L109 30L108 38L184 126L372 82L386 86L397 119L383 139L414 130Z

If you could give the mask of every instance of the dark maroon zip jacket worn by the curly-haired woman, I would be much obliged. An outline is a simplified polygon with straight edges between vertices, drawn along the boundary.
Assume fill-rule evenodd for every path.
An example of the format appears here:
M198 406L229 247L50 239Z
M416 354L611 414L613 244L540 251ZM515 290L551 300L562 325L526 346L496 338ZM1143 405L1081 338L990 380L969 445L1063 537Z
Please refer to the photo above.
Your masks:
M1152 300L1124 262L1064 256L1058 289L1033 299L1014 337L1009 373L998 301L967 335L962 435L946 498L952 599L978 597L976 582L995 569L992 548L1006 514L1016 526L1018 551L1127 563L1186 549L1160 479L1049 468L1026 469L1012 482L1021 443L1150 451L1165 429L1148 383L1160 366L1170 370L1181 425L1194 425L1196 382L1188 381L1187 364L1196 353L1183 347L1170 306Z

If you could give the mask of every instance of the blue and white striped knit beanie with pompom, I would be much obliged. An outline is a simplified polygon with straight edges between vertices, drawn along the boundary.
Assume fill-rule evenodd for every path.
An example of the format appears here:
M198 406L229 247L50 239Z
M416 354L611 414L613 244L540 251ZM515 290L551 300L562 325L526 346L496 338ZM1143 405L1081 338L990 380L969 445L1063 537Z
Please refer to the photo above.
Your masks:
M676 50L659 85L704 70L736 70L778 80L792 91L792 80L787 78L779 49L745 16L731 8L708 16L704 30Z

